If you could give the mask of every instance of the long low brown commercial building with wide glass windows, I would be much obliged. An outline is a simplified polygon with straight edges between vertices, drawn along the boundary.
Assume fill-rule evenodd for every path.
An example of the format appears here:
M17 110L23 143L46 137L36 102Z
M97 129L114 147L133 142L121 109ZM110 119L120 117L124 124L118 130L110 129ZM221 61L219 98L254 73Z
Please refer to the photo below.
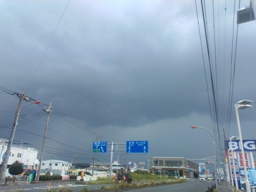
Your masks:
M152 157L152 174L197 178L199 165L184 157Z

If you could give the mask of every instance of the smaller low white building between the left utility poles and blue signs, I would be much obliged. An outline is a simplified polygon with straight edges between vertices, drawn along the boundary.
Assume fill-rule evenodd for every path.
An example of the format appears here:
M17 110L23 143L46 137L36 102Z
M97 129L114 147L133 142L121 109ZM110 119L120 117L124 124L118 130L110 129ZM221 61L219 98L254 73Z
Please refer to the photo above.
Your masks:
M71 163L66 161L50 159L42 161L41 169L68 170L71 165Z

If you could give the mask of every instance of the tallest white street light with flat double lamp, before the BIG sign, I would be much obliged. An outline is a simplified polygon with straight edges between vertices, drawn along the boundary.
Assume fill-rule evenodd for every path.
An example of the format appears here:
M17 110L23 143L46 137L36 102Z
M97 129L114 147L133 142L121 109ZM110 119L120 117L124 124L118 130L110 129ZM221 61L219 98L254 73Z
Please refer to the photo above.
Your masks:
M241 145L241 152L242 152L242 158L243 158L243 164L244 164L246 192L251 192L251 188L250 188L250 182L248 180L247 168L246 168L246 164L245 164L244 145L243 145L243 139L242 139L242 132L241 132L241 127L240 127L239 115L238 115L238 108L239 109L245 109L245 108L252 107L251 105L248 105L249 103L252 103L252 102L253 101L250 101L250 100L241 100L241 101L238 101L238 103L235 104L236 122L237 122L237 127L238 127L238 134L239 134L240 145Z

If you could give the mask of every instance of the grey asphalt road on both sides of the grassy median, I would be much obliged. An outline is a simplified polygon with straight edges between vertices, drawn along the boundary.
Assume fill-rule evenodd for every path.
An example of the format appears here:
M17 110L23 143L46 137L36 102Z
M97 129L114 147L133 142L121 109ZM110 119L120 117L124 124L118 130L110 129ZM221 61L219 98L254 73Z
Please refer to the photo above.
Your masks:
M214 185L213 181L199 182L198 180L187 180L186 183L178 183L172 185L155 186L152 188L136 189L136 192L205 192L208 187ZM1 192L15 192L15 189L22 189L23 191L33 191L33 192L45 192L48 189L49 182L45 183L16 183L16 185L1 186ZM105 184L105 186L110 186L111 184ZM75 185L75 181L65 181L65 182L52 182L51 189L58 191L59 188L71 188L72 192L80 191L84 186ZM101 189L101 185L87 185L88 190ZM135 191L131 189L129 191Z

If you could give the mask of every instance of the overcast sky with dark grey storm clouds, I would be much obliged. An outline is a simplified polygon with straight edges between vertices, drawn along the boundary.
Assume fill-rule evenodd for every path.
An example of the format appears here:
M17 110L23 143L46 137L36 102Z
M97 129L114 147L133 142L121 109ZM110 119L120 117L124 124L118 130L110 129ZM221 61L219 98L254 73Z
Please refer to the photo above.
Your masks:
M238 1L234 29L234 1L227 1L226 12L225 1L213 3L214 9L212 1L206 1L204 14L220 129L214 135L223 147L223 129L227 138L238 136L234 104L256 98L256 25L240 24L236 44ZM97 132L98 140L108 143L147 140L150 157L213 156L211 133L190 128L217 128L200 1L196 5L203 53L192 0L0 4L0 86L18 93L24 89L44 105L52 102L43 159L74 162L76 156L78 163L92 163ZM241 1L240 8L247 5L249 0ZM19 99L3 91L0 99L0 136L9 138ZM239 110L243 139L256 136L256 104L252 106ZM47 119L42 110L38 105L22 108L22 113L35 118L17 125L16 140L41 148ZM114 152L113 160L120 161L119 154ZM96 158L109 162L109 156L107 152ZM122 161L146 162L144 156L129 154Z

